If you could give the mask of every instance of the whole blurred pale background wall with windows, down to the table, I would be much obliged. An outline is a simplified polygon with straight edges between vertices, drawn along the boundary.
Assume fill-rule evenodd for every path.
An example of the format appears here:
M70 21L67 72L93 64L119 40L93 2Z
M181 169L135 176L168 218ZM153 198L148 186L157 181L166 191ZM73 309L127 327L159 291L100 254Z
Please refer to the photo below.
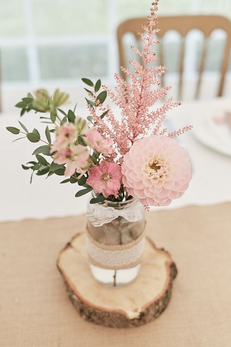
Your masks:
M81 77L113 86L119 72L116 29L128 18L149 14L150 0L0 0L0 56L2 111L13 111L14 104L28 91L60 87L73 102L85 105ZM231 19L231 1L160 0L159 16L219 14ZM145 24L145 22L144 22ZM187 86L184 99L192 97L197 63L202 51L202 34L189 33L184 61ZM213 32L206 59L206 81L202 98L215 95L216 79L224 47L224 33ZM129 48L133 38L124 37ZM169 32L162 40L166 84L174 96L179 57L179 36ZM134 53L127 50L127 57ZM157 54L158 55L158 54ZM226 75L224 95L231 91L231 64ZM170 95L171 95L170 93ZM86 96L86 95L85 95Z

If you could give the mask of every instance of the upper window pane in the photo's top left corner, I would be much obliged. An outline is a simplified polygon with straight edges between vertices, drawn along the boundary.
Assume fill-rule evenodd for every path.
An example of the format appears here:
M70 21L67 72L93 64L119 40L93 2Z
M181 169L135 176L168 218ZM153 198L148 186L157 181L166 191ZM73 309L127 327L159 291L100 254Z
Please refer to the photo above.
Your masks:
M25 35L22 0L0 3L0 38Z

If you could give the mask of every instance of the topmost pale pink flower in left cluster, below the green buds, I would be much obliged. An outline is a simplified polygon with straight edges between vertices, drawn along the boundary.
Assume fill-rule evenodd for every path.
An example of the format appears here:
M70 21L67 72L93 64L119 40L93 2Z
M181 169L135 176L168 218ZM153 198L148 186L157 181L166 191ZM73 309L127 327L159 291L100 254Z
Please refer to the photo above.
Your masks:
M55 142L51 146L50 152L59 151L67 147L70 143L75 143L78 133L73 123L64 123L55 129Z

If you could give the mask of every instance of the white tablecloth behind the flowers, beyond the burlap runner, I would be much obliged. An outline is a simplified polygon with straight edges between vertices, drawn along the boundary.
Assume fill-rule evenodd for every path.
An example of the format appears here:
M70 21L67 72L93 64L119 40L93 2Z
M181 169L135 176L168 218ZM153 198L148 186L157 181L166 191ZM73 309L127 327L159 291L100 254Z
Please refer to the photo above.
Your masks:
M180 107L169 111L167 118L170 119L174 129L178 129L185 125L193 125L194 116L198 112L203 115L203 110L206 112L211 110L211 113L217 115L217 113L222 114L222 111L230 110L230 106L230 99L227 98L185 102ZM119 111L115 110L115 112L118 114ZM88 110L81 109L78 114L87 117ZM64 179L63 176L52 175L45 180L45 175L41 177L34 175L30 185L31 170L23 170L21 164L33 160L34 156L31 154L35 148L42 145L42 142L33 144L25 138L12 143L17 136L20 136L10 134L6 127L17 127L19 118L19 112L14 115L0 114L0 220L47 218L85 212L89 195L75 198L74 195L79 190L78 185L59 184ZM39 115L28 113L20 120L29 131L36 127L41 135L43 134L45 124L39 124ZM231 200L231 158L201 144L193 135L196 131L194 127L192 131L179 138L192 161L193 179L187 192L165 209L191 204L217 204Z

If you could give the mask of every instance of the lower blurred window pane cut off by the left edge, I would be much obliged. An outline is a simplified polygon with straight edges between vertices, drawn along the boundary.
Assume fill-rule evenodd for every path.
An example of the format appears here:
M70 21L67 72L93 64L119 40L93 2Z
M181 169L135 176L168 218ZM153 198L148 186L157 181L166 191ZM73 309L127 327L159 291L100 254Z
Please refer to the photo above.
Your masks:
M3 81L27 81L29 79L27 65L25 48L1 49Z

